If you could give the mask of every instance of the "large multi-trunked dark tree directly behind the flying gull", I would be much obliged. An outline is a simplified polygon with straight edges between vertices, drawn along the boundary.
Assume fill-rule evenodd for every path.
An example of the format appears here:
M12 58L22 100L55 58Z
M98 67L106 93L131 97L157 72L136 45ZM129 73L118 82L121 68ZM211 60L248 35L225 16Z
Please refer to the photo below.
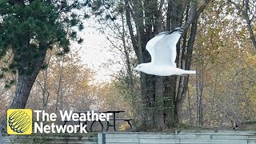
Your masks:
M150 62L150 54L145 49L150 38L162 30L183 26L186 30L182 42L177 46L176 62L182 69L190 70L198 18L209 2L125 0L126 22L138 63ZM158 77L142 73L141 86L143 106L146 107L143 113L144 126L152 127L155 123L158 127L162 127L163 123L169 126L177 124L186 98L188 76Z

